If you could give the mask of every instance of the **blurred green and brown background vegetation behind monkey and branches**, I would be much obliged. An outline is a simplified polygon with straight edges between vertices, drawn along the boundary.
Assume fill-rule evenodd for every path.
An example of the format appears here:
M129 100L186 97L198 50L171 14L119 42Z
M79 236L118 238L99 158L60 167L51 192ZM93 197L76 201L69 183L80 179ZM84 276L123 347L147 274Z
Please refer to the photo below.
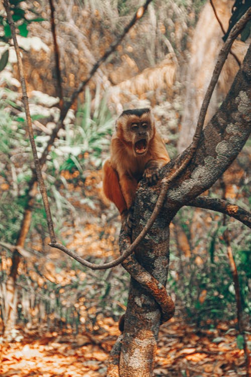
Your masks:
M43 0L10 3L19 30L35 140L41 155L59 117L60 89L50 9ZM62 90L65 100L69 100L137 9L130 0L55 3ZM50 151L43 174L57 236L90 261L105 262L118 255L120 222L115 207L102 193L101 165L108 156L114 119L121 109L152 106L171 157L178 153L177 142L183 137L179 131L187 62L194 27L204 3L157 0L151 4L146 16L131 29L81 93ZM0 25L0 326L3 329L5 283L27 205L32 156L3 6L0 6ZM202 37L208 43L206 36ZM148 85L147 90L141 90L142 81L128 90L126 80L134 83L134 78L146 68L156 69L157 77L159 67L170 53L178 62L173 85L156 87L153 79L152 87ZM169 75L170 68L166 69ZM222 178L227 198L244 208L248 207L249 195L248 151L250 144ZM220 197L222 192L222 182L217 182L208 195ZM177 318L185 316L197 328L214 329L219 321L236 318L226 231L238 270L243 311L246 316L250 314L250 234L236 220L223 224L220 214L183 208L172 226L168 290L176 302ZM17 279L17 324L47 329L59 326L78 333L83 326L87 331L97 330L99 321L107 317L117 320L127 305L127 272L121 266L103 272L87 270L51 249L48 240L45 212L36 191L31 227L24 248L19 250L22 262ZM12 335L18 340L20 333L14 331Z

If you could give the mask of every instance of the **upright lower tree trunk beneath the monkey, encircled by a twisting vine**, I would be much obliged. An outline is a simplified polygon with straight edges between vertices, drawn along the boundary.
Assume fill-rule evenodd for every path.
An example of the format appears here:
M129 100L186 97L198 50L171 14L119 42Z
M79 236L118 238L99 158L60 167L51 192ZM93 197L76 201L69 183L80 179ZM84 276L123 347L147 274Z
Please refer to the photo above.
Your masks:
M137 226L133 232L133 239L141 232L153 211L154 201L152 200L151 203L151 198L157 199L156 191L157 187L145 190L138 197L140 202L137 208L141 210L136 212ZM147 211L143 202L150 203ZM162 212L146 238L135 250L138 262L163 286L167 282L169 266L169 219L173 216L173 213L168 217ZM131 278L120 354L120 377L153 375L160 323L160 306L151 293Z

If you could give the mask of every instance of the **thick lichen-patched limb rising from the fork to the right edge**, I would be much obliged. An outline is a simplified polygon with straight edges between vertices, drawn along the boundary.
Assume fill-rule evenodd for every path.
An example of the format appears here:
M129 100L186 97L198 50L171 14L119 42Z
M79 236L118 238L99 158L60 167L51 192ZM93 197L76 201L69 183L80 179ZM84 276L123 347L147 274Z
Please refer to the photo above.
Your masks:
M251 15L251 8L249 12ZM237 157L251 132L250 83L251 46L225 100L203 130L192 161L177 178L175 186L170 187L166 208L175 203L187 205L208 190ZM169 170L167 165L163 174L168 176Z

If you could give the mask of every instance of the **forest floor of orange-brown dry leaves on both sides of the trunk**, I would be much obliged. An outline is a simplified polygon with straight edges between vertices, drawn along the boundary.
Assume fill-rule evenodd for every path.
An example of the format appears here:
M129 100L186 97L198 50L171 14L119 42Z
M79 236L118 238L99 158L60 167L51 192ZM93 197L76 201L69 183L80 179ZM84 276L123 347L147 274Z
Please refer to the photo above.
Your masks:
M19 328L22 340L1 345L1 377L101 377L119 334L106 318L96 332ZM236 344L233 323L198 330L173 318L160 329L154 376L237 377L245 375L243 350ZM230 329L230 330L229 330ZM251 339L249 339L251 340Z

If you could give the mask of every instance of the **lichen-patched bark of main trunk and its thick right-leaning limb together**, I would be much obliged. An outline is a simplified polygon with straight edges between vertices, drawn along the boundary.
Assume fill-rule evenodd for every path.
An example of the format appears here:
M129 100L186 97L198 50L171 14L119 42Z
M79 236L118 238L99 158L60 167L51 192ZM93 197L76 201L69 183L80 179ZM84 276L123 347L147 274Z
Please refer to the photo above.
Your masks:
M170 221L183 205L188 205L190 200L212 186L236 158L250 134L250 80L249 47L226 99L203 131L194 158L186 171L171 184L159 217L135 250L137 261L163 285L166 284L168 274ZM184 157L186 153L187 151L183 153ZM173 165L174 161L171 161L162 169L162 178L168 176ZM133 240L151 215L159 192L160 185L146 187L143 181L140 183L135 203ZM120 377L153 375L160 323L159 305L152 295L132 278L121 341Z

